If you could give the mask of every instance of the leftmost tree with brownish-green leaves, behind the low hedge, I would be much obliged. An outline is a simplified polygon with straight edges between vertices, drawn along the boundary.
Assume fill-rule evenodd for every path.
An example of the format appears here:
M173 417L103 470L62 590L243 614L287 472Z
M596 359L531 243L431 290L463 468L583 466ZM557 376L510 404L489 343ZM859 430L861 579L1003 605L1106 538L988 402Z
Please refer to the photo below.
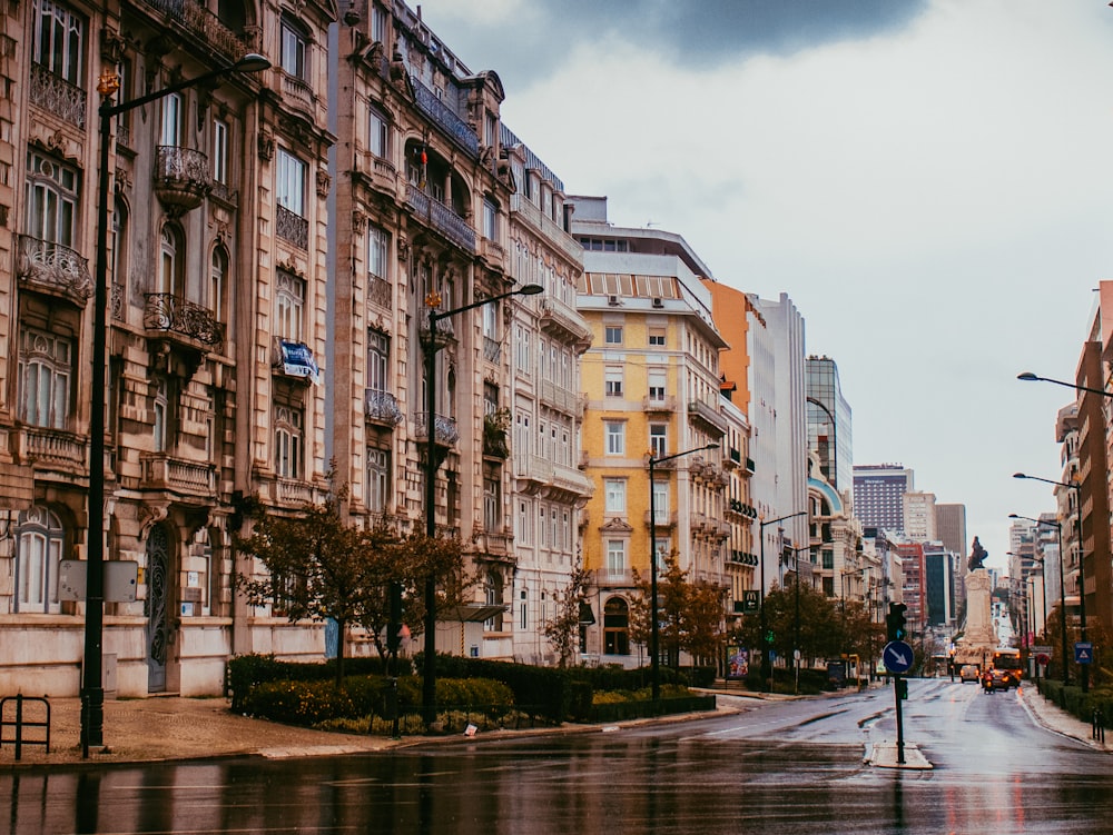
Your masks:
M383 543L344 524L339 506L346 491L331 491L319 505L305 505L298 516L259 509L255 526L237 548L256 557L266 575L237 575L253 606L270 605L290 623L332 618L339 627L336 680L344 677L347 628L368 609L368 596L381 595Z

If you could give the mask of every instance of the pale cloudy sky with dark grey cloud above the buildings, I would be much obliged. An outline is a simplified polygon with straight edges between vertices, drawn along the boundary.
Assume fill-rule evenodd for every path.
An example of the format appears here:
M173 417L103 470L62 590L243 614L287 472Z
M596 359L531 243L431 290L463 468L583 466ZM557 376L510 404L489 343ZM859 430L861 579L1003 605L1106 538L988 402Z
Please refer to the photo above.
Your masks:
M611 220L804 314L856 464L966 505L1004 566L1113 279L1102 0L425 0L503 120ZM1046 489L1045 489L1046 488ZM968 553L968 549L967 549Z

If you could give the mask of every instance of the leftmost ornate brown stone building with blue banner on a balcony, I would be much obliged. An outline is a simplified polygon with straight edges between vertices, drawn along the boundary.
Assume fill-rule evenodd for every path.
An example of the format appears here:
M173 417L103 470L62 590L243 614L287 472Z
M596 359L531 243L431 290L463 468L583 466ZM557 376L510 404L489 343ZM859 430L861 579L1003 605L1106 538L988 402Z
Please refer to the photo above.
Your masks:
M253 566L233 538L252 501L294 511L324 487L333 22L316 3L6 11L3 692L77 693L86 604L59 571L87 555L92 514L106 560L137 565L137 599L105 605L109 689L218 693L234 652L321 645L319 627L240 603L235 577ZM273 67L121 112L101 146L102 95L130 101L248 53ZM91 461L101 199L106 431ZM104 507L88 506L90 467Z

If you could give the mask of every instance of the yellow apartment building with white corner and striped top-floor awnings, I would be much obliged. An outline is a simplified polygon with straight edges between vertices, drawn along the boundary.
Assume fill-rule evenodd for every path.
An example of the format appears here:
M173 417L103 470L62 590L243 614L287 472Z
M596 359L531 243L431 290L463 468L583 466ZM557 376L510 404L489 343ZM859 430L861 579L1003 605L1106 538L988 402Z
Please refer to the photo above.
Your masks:
M719 370L727 344L699 280L710 271L683 238L609 223L605 198L572 202L572 233L584 249L577 306L593 335L581 369L583 449L597 487L582 517L595 613L584 649L638 666L646 657L630 637L634 573L649 576L651 553L661 564L674 551L691 579L729 590L730 423ZM677 456L656 468L652 486L650 456Z

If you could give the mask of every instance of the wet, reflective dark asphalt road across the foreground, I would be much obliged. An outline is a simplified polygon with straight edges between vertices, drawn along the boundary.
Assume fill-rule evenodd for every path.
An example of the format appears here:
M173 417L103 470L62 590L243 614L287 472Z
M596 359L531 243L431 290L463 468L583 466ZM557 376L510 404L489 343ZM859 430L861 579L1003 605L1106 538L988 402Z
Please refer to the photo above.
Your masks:
M590 734L296 761L0 777L0 833L1113 833L1113 758L1015 693L913 680L905 738L863 763L890 689Z

